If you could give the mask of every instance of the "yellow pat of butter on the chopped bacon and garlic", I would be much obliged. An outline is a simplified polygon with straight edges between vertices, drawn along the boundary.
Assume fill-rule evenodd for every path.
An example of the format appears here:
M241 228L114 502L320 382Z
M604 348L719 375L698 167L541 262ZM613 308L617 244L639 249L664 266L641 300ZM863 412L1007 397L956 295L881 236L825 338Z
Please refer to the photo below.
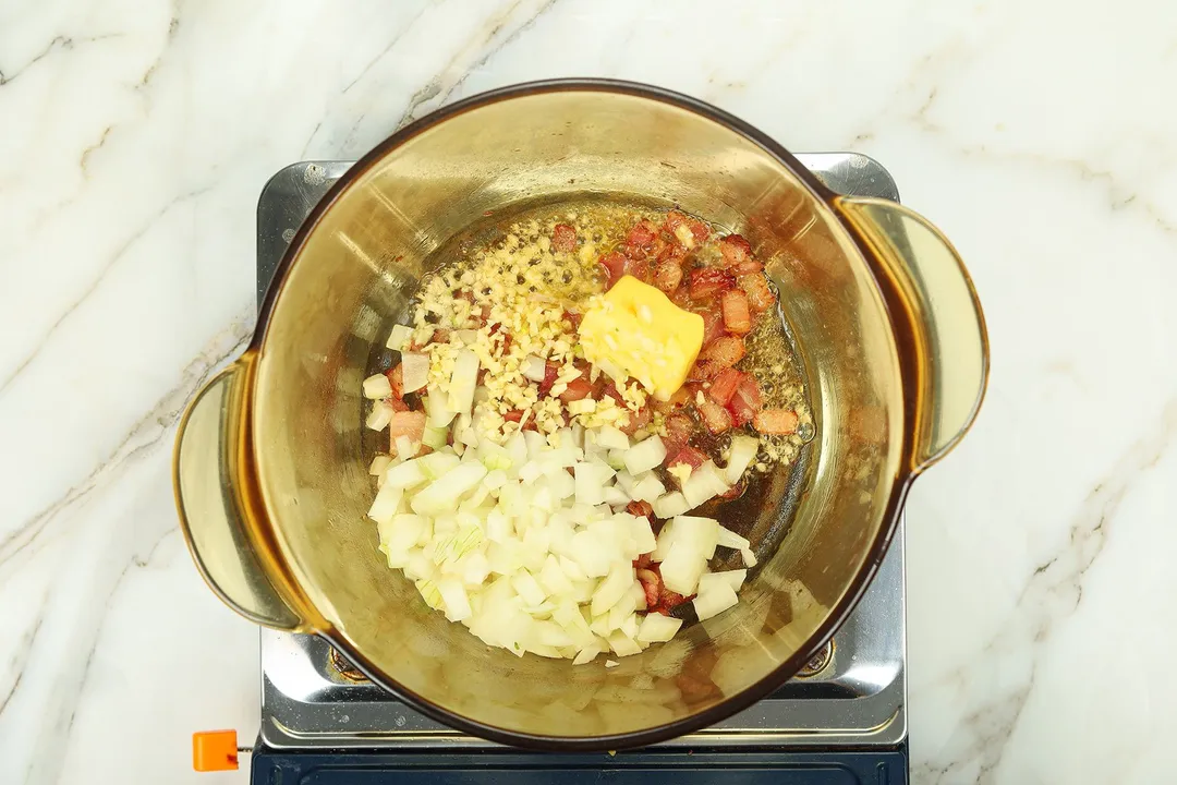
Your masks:
M686 381L703 346L703 317L625 275L580 321L585 359L614 380L633 377L667 400Z

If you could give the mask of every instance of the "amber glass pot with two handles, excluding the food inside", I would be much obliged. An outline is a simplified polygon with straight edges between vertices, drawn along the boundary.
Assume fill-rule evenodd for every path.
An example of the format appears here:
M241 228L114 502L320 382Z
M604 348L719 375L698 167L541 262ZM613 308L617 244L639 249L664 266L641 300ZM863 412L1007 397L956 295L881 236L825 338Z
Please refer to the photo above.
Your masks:
M740 531L782 533L759 543L739 605L614 668L488 650L388 570L365 518L375 438L360 382L387 361L434 250L487 215L586 195L677 205L746 237L779 288L816 425L803 471L738 507ZM709 725L800 670L870 581L911 481L972 424L986 373L969 275L910 209L832 193L681 95L520 85L398 131L314 208L248 350L188 407L177 503L201 574L246 618L322 636L461 731L613 750Z

